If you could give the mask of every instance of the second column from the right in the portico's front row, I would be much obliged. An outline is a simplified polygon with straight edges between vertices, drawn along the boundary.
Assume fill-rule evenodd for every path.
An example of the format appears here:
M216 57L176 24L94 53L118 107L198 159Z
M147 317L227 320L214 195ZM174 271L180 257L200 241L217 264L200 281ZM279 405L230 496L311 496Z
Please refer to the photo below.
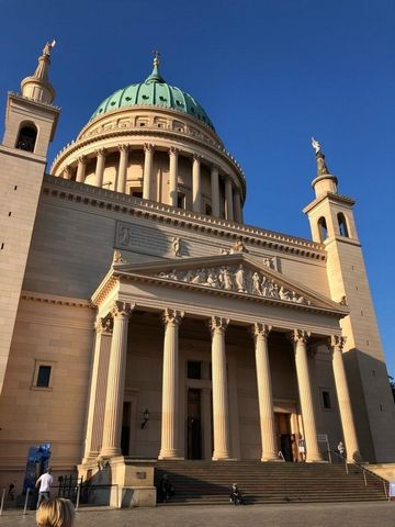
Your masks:
M318 450L312 383L308 373L306 343L309 336L311 334L308 332L294 329L293 341L295 350L295 366L303 418L304 439L306 442L306 461L321 461L321 456Z

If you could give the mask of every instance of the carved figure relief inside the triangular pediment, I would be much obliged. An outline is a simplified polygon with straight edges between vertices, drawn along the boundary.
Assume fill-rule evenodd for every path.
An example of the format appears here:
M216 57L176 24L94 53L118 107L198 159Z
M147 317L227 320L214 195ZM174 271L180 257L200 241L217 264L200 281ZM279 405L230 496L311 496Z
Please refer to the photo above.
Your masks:
M169 272L160 272L157 277L224 291L309 304L309 301L301 294L276 283L260 271L246 268L242 264L193 270L172 269Z

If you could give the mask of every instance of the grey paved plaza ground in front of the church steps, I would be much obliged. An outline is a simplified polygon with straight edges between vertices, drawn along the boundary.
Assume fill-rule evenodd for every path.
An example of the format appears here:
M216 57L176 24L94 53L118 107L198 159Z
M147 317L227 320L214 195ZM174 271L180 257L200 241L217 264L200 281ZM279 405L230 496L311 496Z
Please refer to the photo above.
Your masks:
M4 511L0 527L35 527L35 513ZM395 502L81 508L75 527L395 527Z

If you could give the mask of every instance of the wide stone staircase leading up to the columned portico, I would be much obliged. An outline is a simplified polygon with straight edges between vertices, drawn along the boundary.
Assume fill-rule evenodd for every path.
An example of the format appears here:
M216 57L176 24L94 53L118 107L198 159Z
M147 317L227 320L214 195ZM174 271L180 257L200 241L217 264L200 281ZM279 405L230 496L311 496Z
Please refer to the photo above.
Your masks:
M233 482L246 504L386 500L384 480L369 471L364 478L353 464L348 469L347 474L343 463L158 461L155 482L166 473L176 489L166 505L224 505Z

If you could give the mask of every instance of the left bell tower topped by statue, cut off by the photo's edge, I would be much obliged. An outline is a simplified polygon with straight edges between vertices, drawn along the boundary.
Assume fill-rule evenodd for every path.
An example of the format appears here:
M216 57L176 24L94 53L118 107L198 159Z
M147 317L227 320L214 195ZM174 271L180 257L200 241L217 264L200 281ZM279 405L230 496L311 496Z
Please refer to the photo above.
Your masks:
M38 198L59 109L48 80L47 43L35 72L22 80L21 93L9 93L0 144L0 391L26 267Z

